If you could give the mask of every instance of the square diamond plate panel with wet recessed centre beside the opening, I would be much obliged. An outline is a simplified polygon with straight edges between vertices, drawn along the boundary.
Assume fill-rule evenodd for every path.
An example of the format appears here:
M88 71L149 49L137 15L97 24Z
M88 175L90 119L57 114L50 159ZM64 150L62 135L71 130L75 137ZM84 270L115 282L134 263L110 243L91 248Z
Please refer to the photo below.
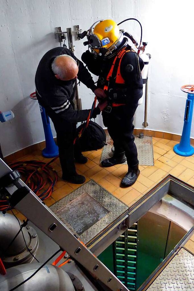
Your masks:
M84 243L88 243L128 210L128 206L90 180L53 204L50 210ZM69 212L68 216L65 212ZM71 212L74 212L72 216Z

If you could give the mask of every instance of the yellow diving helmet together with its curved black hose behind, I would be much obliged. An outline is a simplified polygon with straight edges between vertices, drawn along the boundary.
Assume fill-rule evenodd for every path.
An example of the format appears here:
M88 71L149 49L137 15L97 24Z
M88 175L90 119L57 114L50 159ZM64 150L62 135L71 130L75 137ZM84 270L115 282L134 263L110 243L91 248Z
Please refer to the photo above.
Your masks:
M135 18L128 18L120 22L119 24L131 19L138 21ZM92 51L92 54L94 55L95 58L97 58L97 56L107 58L111 57L116 53L118 47L120 49L127 45L128 43L127 38L129 38L137 48L138 43L135 40L135 38L133 38L133 36L130 35L127 31L119 30L118 25L113 20L109 19L99 20L96 21L88 31L83 31L82 34L79 34L79 37L80 38L84 38L85 36L87 37L88 41L85 41L84 45L88 45L88 48ZM126 36L127 38L124 38L124 36ZM141 40L142 40L142 26L141 26ZM138 47L138 51L144 50L145 45L143 45L143 47L140 47L140 45Z

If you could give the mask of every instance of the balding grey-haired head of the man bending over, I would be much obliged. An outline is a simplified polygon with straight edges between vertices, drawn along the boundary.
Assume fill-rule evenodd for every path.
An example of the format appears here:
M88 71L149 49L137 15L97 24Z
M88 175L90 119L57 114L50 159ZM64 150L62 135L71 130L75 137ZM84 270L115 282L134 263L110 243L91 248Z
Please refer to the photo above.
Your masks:
M69 81L77 77L78 65L69 55L60 55L52 63L52 71L57 79Z

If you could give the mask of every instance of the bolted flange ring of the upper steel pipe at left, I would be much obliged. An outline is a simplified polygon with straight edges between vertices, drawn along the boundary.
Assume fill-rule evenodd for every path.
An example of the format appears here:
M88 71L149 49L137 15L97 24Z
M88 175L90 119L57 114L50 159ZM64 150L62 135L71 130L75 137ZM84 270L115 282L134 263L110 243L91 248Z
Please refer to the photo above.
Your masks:
M28 235L30 237L30 243L28 244L28 249L30 252L35 255L35 252L38 249L39 239L35 229L29 225L26 226L28 230ZM17 266L24 263L31 263L34 259L31 253L26 248L22 253L18 253L14 256L7 256L2 258L3 263L6 267Z

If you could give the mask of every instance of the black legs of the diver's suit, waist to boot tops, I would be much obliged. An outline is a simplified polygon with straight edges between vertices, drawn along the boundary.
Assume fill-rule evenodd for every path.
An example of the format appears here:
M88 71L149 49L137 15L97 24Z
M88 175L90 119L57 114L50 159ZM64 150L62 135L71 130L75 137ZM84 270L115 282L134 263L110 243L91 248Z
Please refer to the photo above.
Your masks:
M115 155L125 152L129 167L138 163L137 148L133 135L133 116L138 106L138 100L142 94L131 102L130 106L121 105L112 107L110 113L102 112L103 123L107 127L110 137L113 140Z

